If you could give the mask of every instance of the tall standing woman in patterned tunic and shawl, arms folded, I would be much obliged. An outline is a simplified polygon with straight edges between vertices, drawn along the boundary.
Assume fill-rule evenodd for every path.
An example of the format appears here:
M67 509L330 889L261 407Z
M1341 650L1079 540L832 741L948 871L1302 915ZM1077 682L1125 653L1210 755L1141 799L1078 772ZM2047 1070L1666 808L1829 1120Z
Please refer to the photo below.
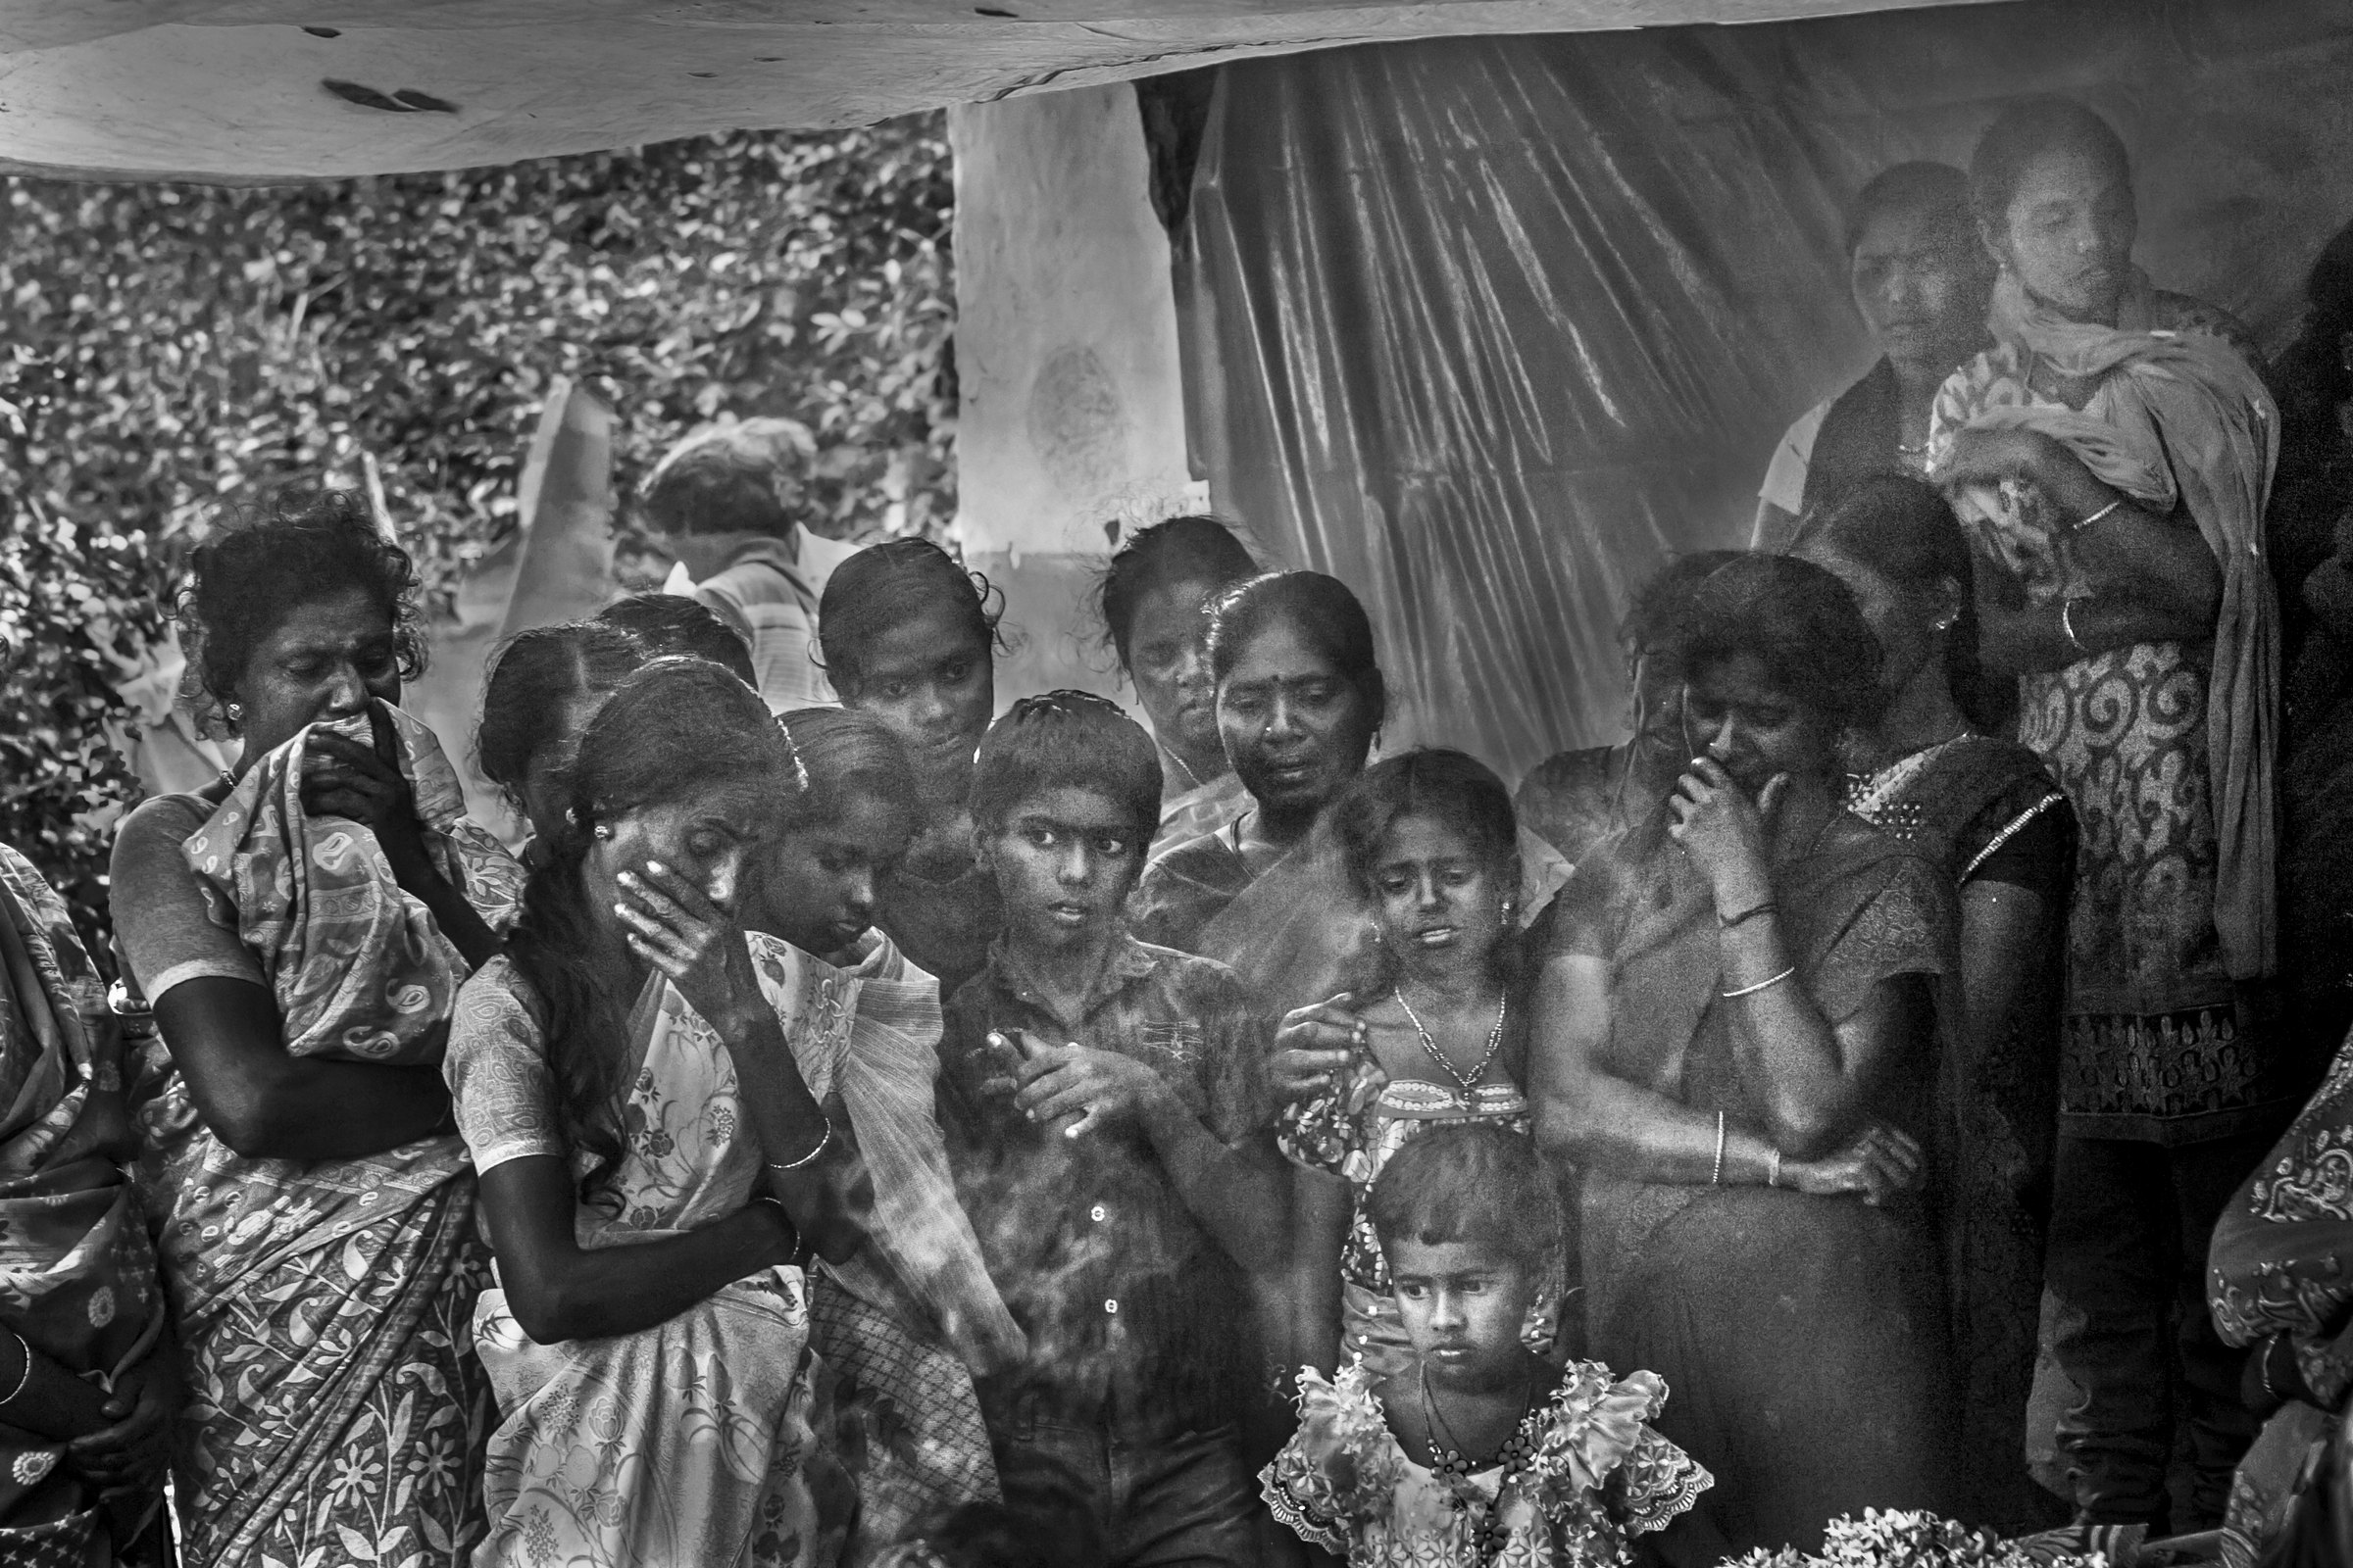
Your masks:
M2224 1199L2308 1084L2275 994L2278 418L2221 313L2132 266L2132 165L2080 103L2002 113L1969 165L1995 346L1937 395L1934 480L1974 531L1984 661L2082 825L2068 917L2049 1286L2080 1389L2059 1443L2092 1523L2191 1514L2249 1439L2205 1326Z

